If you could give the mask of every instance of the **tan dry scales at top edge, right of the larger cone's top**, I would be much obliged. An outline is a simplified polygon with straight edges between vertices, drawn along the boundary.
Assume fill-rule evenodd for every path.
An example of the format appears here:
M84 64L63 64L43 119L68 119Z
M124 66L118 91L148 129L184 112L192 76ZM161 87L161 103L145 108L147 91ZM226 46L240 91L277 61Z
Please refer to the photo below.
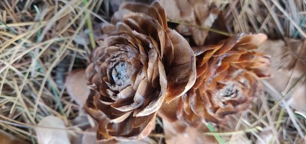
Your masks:
M211 6L210 0L160 0L167 18L202 27L211 27L218 17L219 9ZM182 35L191 35L198 46L202 46L208 31L180 24L176 30Z

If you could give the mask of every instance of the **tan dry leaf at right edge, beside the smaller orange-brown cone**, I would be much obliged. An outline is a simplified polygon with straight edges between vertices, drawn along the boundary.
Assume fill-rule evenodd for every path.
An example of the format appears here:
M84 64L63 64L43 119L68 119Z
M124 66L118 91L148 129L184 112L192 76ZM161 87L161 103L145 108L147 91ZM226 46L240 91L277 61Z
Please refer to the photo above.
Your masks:
M306 41L285 39L268 40L259 50L271 55L271 68L273 76L267 81L283 95L306 73ZM289 104L291 107L306 112L306 80L290 93Z

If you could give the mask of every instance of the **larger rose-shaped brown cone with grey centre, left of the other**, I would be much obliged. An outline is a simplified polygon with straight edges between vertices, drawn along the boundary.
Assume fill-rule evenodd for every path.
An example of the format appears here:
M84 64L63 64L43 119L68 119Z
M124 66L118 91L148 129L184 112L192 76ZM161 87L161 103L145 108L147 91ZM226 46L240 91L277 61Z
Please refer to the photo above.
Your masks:
M105 24L86 69L91 88L87 112L98 121L97 138L139 139L155 124L163 101L186 93L196 77L188 42L167 27L159 3L124 3ZM102 119L103 113L110 122Z

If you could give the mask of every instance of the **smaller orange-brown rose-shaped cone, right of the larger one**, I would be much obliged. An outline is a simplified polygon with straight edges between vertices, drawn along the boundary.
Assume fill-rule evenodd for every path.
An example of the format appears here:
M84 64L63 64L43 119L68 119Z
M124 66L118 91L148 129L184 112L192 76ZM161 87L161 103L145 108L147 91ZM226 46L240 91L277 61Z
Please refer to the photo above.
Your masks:
M262 94L260 77L269 57L253 51L267 39L264 34L239 34L217 45L195 49L197 79L178 104L177 117L189 124L216 124L228 114L245 110Z

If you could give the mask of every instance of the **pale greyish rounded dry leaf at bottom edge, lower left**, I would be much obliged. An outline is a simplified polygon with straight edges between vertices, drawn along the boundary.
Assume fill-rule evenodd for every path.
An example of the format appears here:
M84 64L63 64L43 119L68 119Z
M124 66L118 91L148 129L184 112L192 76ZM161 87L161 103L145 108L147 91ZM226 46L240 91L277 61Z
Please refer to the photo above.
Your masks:
M68 133L65 130L48 129L41 127L52 127L65 129L64 122L55 116L44 117L35 128L38 144L70 144Z

